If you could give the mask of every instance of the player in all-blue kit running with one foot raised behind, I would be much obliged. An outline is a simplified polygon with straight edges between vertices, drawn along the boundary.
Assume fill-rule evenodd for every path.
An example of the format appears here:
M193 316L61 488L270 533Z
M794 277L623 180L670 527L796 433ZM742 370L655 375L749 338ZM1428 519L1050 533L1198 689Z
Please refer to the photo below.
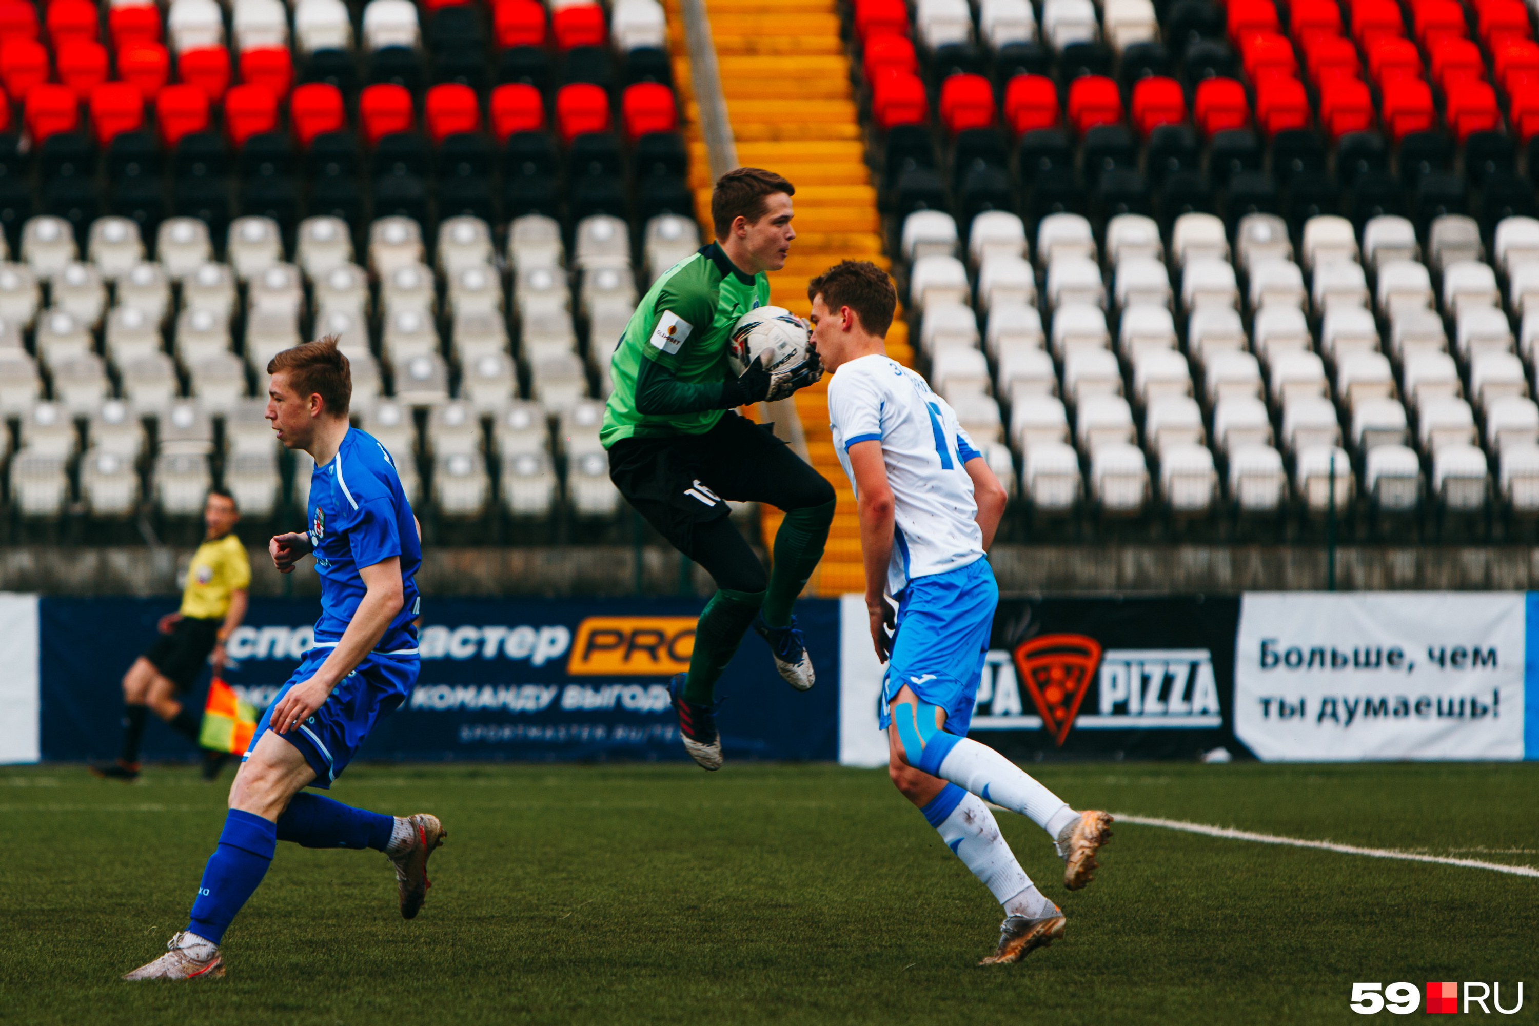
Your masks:
M309 529L268 551L280 572L315 555L315 646L263 714L229 789L219 848L203 869L186 929L166 954L125 980L225 975L220 940L262 883L277 841L374 848L396 868L400 914L428 891L428 855L443 843L437 817L354 809L303 788L329 788L380 717L417 683L422 541L400 477L379 441L348 425L352 378L334 337L285 349L268 363L268 420L279 441L315 458Z

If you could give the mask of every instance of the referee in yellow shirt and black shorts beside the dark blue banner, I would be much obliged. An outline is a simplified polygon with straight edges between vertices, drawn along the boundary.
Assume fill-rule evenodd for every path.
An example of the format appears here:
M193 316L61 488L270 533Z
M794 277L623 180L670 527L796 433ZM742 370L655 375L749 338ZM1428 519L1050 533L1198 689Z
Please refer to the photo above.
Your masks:
M234 535L237 520L235 498L217 488L209 491L203 505L208 532L192 554L182 611L160 618L160 637L123 675L123 752L115 763L92 766L95 775L125 781L139 777L139 743L151 709L177 734L199 743L203 714L177 697L197 683L205 663L212 661L215 674L223 668L225 641L246 615L251 560ZM205 752L205 778L219 775L228 758L225 752Z

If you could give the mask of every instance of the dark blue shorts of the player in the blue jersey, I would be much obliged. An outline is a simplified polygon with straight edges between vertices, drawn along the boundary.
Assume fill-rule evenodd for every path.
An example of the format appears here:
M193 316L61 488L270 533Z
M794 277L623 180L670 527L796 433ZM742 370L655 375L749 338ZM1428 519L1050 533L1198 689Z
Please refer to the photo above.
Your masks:
M246 754L240 761L246 761L251 758L251 752L257 751L257 741L271 729L272 709L283 700L289 688L314 677L328 655L331 655L329 648L312 648L305 652L294 675L279 689L272 705L262 714L257 731L251 735L251 745L246 746ZM311 788L329 788L331 781L346 769L374 725L406 701L417 683L419 668L420 661L416 652L411 655L369 652L351 674L331 689L331 697L308 720L288 734L279 734L297 748L309 768L315 771L315 778L309 783Z

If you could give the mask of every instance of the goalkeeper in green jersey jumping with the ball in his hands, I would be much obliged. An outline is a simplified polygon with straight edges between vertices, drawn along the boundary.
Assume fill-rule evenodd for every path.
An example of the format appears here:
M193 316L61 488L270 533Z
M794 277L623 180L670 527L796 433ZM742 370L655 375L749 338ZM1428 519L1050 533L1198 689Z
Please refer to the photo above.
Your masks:
M733 328L770 301L765 271L785 266L796 231L796 186L759 168L729 171L711 192L716 242L665 271L631 315L611 358L614 392L603 414L609 477L648 523L716 580L700 614L689 672L674 677L683 746L720 769L714 688L749 626L770 643L796 689L813 686L813 661L791 615L834 518L834 488L790 446L737 414L786 398L823 375L816 351L770 371L754 360L739 377L728 361ZM785 511L774 571L728 520L726 500Z

